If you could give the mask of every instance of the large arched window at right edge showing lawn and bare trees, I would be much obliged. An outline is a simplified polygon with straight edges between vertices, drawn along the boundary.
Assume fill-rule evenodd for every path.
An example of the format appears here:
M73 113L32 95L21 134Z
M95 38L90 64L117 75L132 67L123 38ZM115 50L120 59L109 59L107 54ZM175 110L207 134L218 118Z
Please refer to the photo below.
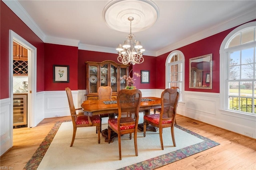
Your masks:
M256 116L256 22L234 29L220 47L220 104Z

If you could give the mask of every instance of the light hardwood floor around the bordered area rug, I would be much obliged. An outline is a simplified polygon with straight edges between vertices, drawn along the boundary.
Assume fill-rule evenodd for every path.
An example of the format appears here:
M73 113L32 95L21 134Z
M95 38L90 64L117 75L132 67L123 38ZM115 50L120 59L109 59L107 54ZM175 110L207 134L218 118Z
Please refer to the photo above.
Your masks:
M62 120L71 118L47 118L35 128L14 129L13 147L1 156L0 166L22 170L55 122ZM158 170L256 170L255 139L180 115L177 115L176 120L178 125L210 138L220 145L162 166ZM192 124L189 120L198 124Z

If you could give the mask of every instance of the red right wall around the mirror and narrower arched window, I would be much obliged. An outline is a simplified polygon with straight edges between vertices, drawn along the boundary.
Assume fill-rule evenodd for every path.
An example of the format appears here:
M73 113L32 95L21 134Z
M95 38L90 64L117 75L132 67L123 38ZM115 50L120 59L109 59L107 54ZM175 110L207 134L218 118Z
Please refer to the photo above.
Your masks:
M236 26L238 27L238 26ZM178 48L185 56L185 91L220 92L220 45L224 38L236 27L204 38L187 46ZM189 88L189 59L212 53L212 90ZM168 54L162 54L156 59L156 88L165 88L165 62Z

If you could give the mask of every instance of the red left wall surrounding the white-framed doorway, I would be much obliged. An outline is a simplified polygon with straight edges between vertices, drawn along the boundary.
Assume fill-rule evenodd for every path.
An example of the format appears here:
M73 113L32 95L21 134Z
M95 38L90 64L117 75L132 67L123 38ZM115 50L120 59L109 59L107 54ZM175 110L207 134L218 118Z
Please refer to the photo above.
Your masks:
M44 43L0 1L0 99L9 98L9 30L37 48L37 92L44 91Z

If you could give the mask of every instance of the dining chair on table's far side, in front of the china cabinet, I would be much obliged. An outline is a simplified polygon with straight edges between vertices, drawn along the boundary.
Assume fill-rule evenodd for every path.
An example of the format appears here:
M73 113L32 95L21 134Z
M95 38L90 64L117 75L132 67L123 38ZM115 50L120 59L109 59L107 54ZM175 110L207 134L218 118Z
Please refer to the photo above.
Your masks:
M101 99L111 100L112 88L110 86L100 86L98 88L98 96L99 96L99 100ZM106 117L108 117L108 114L100 114L100 133L101 133L102 118L106 118Z

